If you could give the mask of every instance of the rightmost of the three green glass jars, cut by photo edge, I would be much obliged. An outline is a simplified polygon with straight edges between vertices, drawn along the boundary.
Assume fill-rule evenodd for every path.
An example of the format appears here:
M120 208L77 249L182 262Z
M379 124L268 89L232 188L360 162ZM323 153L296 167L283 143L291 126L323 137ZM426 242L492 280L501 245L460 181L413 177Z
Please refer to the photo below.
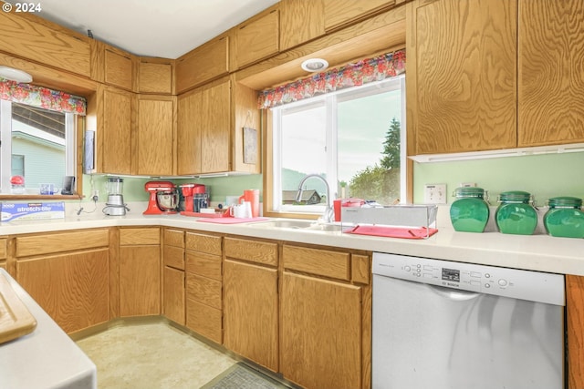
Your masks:
M584 238L582 200L575 197L555 197L547 200L544 226L551 236Z

